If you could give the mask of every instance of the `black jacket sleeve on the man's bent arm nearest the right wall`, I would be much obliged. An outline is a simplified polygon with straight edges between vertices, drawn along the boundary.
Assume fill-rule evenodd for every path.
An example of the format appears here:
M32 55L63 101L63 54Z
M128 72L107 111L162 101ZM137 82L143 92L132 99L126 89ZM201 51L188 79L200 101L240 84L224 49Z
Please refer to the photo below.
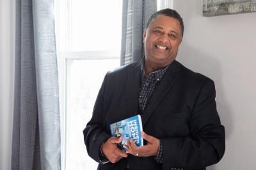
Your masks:
M188 120L189 136L163 141L163 169L200 169L216 164L225 152L225 129L216 110L212 80L202 85Z

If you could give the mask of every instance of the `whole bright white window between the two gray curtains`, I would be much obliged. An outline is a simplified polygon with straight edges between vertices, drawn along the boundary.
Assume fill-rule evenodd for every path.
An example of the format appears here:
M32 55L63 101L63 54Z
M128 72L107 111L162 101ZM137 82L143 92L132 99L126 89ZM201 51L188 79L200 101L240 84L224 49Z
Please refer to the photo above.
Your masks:
M83 129L107 71L120 66L122 0L56 0L62 169L97 169Z

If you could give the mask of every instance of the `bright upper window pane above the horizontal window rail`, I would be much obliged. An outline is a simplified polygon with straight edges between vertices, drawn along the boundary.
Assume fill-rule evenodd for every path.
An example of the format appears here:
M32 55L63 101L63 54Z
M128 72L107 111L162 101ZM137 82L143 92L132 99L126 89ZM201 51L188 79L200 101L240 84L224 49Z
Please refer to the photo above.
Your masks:
M70 51L120 49L122 0L72 0Z

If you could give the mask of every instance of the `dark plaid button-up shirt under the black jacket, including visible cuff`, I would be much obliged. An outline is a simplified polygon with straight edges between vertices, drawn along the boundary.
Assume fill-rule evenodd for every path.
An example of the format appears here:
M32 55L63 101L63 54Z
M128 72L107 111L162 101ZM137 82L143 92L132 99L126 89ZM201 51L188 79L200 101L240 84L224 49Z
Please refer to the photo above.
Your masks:
M143 61L144 60L141 60L141 86L139 94L139 109L141 114L143 114L143 112L145 111L148 101L150 101L150 98L154 93L155 89L157 88L159 81L163 78L164 73L168 69L168 66L163 67L162 69L150 73L148 77L146 77L143 67ZM160 141L159 150L157 155L154 156L154 159L156 159L156 161L159 163L163 163L162 141Z

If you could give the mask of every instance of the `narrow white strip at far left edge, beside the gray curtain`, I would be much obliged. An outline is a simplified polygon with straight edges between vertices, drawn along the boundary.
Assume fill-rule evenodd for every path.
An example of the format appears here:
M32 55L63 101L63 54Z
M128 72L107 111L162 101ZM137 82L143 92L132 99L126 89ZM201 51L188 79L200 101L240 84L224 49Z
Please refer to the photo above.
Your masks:
M0 0L0 169L11 169L14 0Z

